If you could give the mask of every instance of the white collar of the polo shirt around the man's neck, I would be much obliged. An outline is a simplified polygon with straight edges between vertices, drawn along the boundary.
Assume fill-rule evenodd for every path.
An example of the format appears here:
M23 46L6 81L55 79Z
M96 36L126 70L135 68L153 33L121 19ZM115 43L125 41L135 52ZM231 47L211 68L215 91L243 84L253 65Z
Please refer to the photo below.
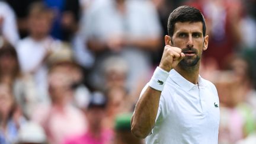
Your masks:
M169 72L169 76L171 77L172 81L174 81L177 85L179 85L181 88L183 88L185 91L189 91L191 88L197 86L195 84L193 84L192 82L188 81L187 79L185 79L183 76L180 75L180 73L178 73L177 71L175 71L175 69L172 69ZM202 78L199 75L199 87L203 86L202 85Z

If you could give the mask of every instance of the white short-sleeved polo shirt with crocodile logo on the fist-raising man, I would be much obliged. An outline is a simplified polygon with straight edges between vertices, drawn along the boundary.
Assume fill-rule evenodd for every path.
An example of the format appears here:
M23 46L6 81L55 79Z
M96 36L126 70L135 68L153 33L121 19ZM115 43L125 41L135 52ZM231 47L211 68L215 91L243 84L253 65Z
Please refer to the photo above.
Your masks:
M155 126L146 143L217 144L219 120L215 85L200 76L199 85L194 85L172 69L161 93Z

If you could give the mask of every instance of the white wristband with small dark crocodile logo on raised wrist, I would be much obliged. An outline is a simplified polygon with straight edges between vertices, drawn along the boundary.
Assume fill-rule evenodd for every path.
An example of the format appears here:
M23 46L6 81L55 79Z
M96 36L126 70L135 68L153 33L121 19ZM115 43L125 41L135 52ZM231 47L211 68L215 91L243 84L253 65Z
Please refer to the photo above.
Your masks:
M169 76L169 72L164 71L159 68L159 66L155 69L151 80L149 81L149 87L156 89L158 91L162 91L164 89L165 81Z

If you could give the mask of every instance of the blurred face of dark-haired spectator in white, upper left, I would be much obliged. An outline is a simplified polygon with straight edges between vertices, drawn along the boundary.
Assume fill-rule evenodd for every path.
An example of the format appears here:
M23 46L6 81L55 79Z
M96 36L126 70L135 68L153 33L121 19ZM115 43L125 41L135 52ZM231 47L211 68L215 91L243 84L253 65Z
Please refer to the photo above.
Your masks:
M52 15L47 11L32 11L28 17L28 29L34 39L43 39L50 33Z

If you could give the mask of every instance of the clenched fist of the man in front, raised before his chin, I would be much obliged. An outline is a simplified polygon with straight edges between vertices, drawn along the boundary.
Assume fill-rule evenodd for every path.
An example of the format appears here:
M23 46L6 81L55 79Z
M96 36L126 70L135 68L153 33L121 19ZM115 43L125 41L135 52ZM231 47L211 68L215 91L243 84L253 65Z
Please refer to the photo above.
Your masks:
M180 48L167 45L164 47L159 67L169 72L172 68L175 68L184 57L185 54L181 52Z

